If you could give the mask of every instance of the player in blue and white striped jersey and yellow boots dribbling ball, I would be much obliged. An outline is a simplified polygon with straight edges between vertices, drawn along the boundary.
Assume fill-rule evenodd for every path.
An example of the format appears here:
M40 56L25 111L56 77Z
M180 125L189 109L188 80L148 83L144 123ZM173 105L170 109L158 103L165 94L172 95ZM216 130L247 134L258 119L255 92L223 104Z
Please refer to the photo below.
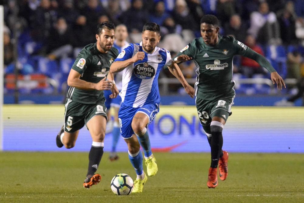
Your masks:
M123 71L122 103L118 118L121 135L128 145L129 159L136 170L133 192L142 192L147 176L143 172L142 146L149 176L157 173L156 159L152 154L147 125L159 111L158 75L164 66L181 82L193 98L195 92L185 80L176 62L191 60L187 55L171 59L169 51L159 48L160 27L156 23L143 26L142 42L126 47L110 67L111 73Z

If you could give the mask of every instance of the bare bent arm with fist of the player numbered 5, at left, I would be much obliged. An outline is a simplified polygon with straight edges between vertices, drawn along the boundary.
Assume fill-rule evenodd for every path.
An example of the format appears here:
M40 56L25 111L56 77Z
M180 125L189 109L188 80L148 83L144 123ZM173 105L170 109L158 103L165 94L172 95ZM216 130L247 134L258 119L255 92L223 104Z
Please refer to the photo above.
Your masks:
M67 78L67 85L71 87L75 87L78 89L84 90L106 90L111 89L112 84L109 81L106 81L106 77L99 81L98 83L86 82L80 79L81 74L71 69L69 76Z

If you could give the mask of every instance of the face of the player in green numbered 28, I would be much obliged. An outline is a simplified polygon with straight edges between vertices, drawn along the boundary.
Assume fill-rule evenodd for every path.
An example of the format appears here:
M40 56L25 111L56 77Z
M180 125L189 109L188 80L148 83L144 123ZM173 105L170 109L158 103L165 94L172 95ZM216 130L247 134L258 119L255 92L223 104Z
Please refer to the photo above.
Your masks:
M219 27L207 23L201 24L201 35L204 42L208 45L215 45L217 43L218 32L219 32Z

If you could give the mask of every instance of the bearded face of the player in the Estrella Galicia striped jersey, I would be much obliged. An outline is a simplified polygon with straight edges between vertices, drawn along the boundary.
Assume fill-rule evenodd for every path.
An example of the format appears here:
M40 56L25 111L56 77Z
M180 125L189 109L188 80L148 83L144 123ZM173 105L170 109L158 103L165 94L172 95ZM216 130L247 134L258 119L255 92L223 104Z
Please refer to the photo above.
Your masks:
M145 30L142 33L143 49L148 53L153 52L160 39L159 33Z

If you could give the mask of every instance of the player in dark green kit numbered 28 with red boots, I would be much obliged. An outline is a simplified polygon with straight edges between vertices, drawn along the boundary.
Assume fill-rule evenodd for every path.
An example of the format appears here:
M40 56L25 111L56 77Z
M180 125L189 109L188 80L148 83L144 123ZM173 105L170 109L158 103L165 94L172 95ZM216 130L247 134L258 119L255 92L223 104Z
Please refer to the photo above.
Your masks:
M203 16L200 30L202 37L194 39L178 53L177 57L186 54L195 62L195 103L199 121L211 147L207 186L214 188L218 185L218 165L220 179L225 180L228 175L228 152L222 150L222 131L232 114L231 106L235 97L235 82L232 80L233 56L240 54L257 61L271 73L271 80L273 84L277 84L278 89L285 87L285 82L262 55L233 37L219 35L216 16Z

